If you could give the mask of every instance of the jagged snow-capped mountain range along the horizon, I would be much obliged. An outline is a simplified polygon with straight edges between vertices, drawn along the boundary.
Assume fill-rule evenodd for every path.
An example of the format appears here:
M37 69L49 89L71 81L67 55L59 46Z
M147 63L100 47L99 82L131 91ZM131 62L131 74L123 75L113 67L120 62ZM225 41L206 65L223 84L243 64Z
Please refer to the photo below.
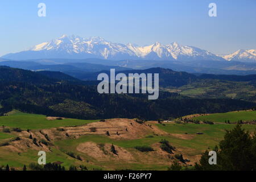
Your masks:
M256 50L239 50L230 55L214 55L193 46L181 46L176 42L163 45L156 42L150 46L134 46L106 41L103 38L81 38L79 36L63 35L60 38L44 42L37 46L18 53L9 53L2 56L5 59L108 59L108 60L232 60L256 62Z

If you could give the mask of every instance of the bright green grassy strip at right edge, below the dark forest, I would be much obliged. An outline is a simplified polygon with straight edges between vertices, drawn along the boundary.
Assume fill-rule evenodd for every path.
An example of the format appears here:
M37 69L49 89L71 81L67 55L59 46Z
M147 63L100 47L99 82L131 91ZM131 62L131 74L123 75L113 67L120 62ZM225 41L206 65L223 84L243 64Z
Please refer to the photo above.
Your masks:
M193 119L198 119L200 121L212 121L212 122L222 122L226 121L237 122L237 121L253 121L256 119L256 111L233 111L229 113L216 113L210 115L204 115L195 117Z

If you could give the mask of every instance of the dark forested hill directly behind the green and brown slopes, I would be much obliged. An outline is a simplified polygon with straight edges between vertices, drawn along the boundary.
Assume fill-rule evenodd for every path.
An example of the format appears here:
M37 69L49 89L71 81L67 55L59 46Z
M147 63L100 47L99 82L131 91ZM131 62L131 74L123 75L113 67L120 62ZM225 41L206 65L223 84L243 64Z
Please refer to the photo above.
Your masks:
M250 109L256 105L240 100L189 98L168 92L160 92L158 100L148 101L145 94L99 94L95 85L75 84L71 77L62 74L61 79L57 79L58 73L42 75L8 67L1 67L0 72L2 114L18 109L27 113L83 119L159 119Z

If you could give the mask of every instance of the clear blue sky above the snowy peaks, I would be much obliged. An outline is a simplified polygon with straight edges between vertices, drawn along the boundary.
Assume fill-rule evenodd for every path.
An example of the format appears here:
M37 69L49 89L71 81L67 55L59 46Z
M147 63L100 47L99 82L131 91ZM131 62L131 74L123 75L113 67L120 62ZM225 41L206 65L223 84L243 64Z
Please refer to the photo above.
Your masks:
M210 17L209 3L217 17ZM46 17L38 4L46 4ZM256 0L1 0L0 56L61 35L147 46L195 46L220 55L256 49Z

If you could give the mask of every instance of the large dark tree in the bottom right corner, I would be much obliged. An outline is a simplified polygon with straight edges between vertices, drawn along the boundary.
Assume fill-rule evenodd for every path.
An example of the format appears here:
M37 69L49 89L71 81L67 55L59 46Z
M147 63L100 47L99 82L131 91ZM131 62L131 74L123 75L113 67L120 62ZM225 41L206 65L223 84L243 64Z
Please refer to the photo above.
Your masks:
M208 151L201 156L200 164L195 164L197 170L227 170L227 171L254 171L256 170L256 133L252 136L248 131L237 124L233 130L226 130L224 140L217 153L217 165L210 165Z

